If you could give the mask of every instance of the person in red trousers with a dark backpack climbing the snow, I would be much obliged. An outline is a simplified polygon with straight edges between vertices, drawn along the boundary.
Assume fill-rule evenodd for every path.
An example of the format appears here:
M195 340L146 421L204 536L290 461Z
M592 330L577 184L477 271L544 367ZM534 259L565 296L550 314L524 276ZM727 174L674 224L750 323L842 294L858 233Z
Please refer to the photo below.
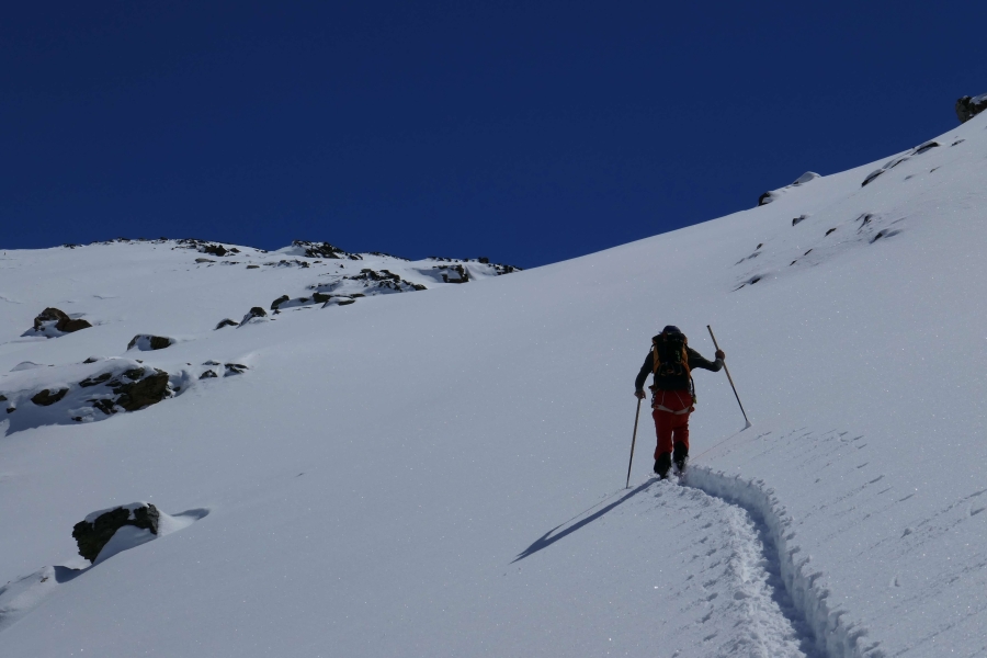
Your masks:
M695 408L695 386L692 371L696 367L718 372L726 354L716 351L716 361L707 361L689 347L689 340L678 327L669 325L651 339L648 352L637 379L634 395L644 399L644 385L649 374L655 375L651 389L651 418L658 446L655 449L655 473L665 479L672 462L679 473L685 470L689 457L689 416Z

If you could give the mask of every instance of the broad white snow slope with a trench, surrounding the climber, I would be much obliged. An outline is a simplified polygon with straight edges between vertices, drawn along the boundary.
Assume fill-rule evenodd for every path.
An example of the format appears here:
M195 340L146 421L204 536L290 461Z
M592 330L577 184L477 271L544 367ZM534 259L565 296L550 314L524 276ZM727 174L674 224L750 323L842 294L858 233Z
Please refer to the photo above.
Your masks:
M316 265L5 252L0 394L69 400L92 355L185 376L101 422L0 421L0 649L987 655L985 127L581 259L219 330ZM46 306L95 326L22 337ZM666 324L707 356L713 326L753 427L697 372L688 481L647 479L643 415L625 491ZM72 525L133 500L198 520L65 577Z

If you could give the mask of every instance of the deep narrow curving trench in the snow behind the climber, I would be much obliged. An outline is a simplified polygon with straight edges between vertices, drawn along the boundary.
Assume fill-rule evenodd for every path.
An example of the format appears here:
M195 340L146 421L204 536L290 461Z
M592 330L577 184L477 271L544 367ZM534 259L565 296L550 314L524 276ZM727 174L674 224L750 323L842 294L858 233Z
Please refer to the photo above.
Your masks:
M822 571L812 567L812 556L804 555L795 544L793 520L784 506L779 502L774 489L765 488L764 480L748 480L739 475L730 476L704 466L690 466L687 487L692 487L736 504L747 511L756 523L768 532L765 555L776 563L784 588L802 620L815 636L816 649L827 658L884 658L885 651L877 648L878 642L867 642L867 629L848 621L847 611L830 608L829 590L817 585Z

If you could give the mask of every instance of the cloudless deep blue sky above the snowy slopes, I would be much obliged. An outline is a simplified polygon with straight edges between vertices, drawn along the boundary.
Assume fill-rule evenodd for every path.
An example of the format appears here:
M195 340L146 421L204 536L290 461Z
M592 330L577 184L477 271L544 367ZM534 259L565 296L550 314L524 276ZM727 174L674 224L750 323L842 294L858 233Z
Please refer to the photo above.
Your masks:
M987 2L9 2L0 247L534 266L957 125Z

